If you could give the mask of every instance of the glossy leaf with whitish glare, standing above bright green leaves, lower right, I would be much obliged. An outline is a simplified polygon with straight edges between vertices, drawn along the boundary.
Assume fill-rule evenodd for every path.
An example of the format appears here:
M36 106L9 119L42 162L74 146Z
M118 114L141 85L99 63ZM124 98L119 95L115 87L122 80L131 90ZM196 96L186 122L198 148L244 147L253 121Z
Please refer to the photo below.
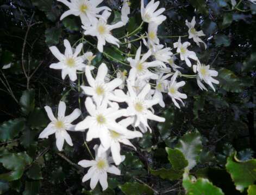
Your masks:
M184 154L189 165L186 167L189 170L193 168L199 160L199 154L202 151L201 135L198 131L188 132L179 139L176 146Z

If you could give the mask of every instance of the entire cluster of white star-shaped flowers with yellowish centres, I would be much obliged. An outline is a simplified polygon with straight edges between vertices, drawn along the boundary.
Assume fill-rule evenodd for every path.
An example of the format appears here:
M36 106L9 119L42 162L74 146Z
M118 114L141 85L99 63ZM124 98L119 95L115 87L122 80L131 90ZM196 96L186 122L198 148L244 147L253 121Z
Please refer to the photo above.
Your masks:
M121 21L115 24L108 24L111 9L107 6L99 6L103 0L58 1L69 8L60 19L68 15L79 16L84 29L83 34L97 37L97 48L100 52L103 52L106 42L120 46L120 40L111 34L111 30L128 23L129 1L123 1ZM199 62L196 53L188 49L191 46L190 42L182 42L182 37L179 37L173 44L176 54L172 53L171 47L160 44L157 34L158 26L166 20L166 16L162 15L165 8L158 9L159 3L159 1L152 0L145 7L144 1L141 0L141 18L143 22L148 23L146 36L141 37L146 46L146 52L141 54L143 47L140 44L136 54L129 55L126 59L129 62L129 68L127 70L117 69L116 77L108 75L109 68L105 63L97 68L97 74L94 76L95 67L91 65L91 61L95 55L90 51L80 54L83 43L73 49L70 42L64 40L66 48L64 54L61 54L55 46L49 48L59 61L51 64L50 68L61 69L63 79L68 75L74 82L77 80L77 71L80 71L80 74L85 73L88 85L78 87L82 88L86 95L85 108L88 115L77 125L72 125L71 123L82 113L79 109L65 116L66 105L60 101L58 117L55 118L51 108L46 106L45 110L51 123L41 132L39 138L48 138L49 135L55 133L59 151L63 149L65 140L68 145L73 145L67 131L85 132L86 141L99 139L101 144L94 147L95 160L81 160L78 163L80 166L90 167L83 177L83 182L90 179L92 189L98 181L103 190L108 187L107 173L121 174L116 166L111 165L113 163L120 165L125 158L121 155L121 144L136 150L130 140L141 138L142 133L147 131L152 132L150 121L165 121L165 118L155 114L153 106L159 105L164 108L164 98L167 95L176 107L180 108L180 103L185 106L183 100L187 98L187 95L180 89L185 85L185 81L177 81L179 77L186 77L181 72L183 68L188 66L193 70L196 75L188 75L188 77L196 78L202 90L207 90L203 82L214 91L213 83L218 84L218 81L213 78L218 73L211 70L209 65L205 66ZM207 49L207 45L200 38L204 36L203 31L195 29L195 17L191 22L186 20L185 24L189 28L188 38L198 46L202 43ZM127 44L131 41L128 35L123 38L126 42L128 40ZM175 63L178 56L180 61L185 61L185 67L177 66ZM111 80L110 77L113 79ZM109 157L110 154L111 157Z

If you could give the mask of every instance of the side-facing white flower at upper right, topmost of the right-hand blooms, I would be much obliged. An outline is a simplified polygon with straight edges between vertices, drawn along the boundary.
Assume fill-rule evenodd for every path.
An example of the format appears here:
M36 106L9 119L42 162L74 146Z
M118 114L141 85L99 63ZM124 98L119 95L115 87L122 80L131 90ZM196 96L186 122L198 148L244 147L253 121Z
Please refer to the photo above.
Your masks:
M189 27L189 38L193 38L193 41L197 44L197 46L200 46L200 43L203 43L204 44L204 48L206 49L207 46L206 44L203 42L203 40L201 40L201 36L205 36L203 31L200 30L200 31L196 31L195 29L195 25L196 25L196 18L195 16L193 17L192 21L191 22L188 22L188 19L186 19L186 25L187 27Z

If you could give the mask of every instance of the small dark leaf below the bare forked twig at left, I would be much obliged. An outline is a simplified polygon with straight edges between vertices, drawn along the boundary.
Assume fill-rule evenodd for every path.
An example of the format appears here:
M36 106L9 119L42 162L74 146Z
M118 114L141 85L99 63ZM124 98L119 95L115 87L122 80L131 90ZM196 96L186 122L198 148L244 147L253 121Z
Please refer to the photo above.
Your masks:
M23 114L28 115L35 108L35 90L29 89L22 93L20 99L21 111Z

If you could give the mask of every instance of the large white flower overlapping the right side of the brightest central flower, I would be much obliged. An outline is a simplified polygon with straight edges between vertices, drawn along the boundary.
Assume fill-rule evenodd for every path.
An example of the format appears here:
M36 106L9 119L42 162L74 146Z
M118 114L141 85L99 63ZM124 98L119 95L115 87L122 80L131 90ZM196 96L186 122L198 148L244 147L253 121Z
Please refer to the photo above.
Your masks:
M149 84L141 90L137 95L133 86L129 81L127 81L128 93L127 95L123 93L121 89L115 90L115 94L120 96L128 104L127 115L134 116L134 125L138 127L140 123L146 126L151 132L151 128L148 126L147 120L154 120L158 122L164 122L165 118L154 115L149 109L159 102L159 99L153 98L152 100L147 100L146 95L150 92L151 86Z

